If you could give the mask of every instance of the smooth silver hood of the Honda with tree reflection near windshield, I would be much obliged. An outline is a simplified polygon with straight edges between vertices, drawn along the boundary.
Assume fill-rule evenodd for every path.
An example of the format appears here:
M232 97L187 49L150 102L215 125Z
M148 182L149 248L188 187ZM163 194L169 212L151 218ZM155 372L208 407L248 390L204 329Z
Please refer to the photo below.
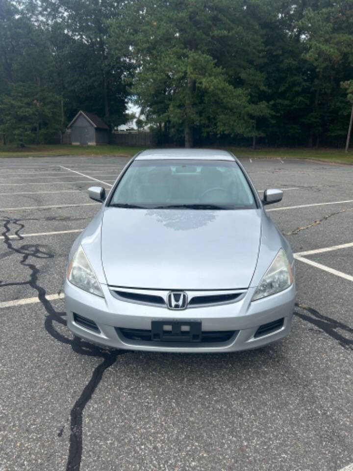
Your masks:
M101 258L108 285L154 289L249 287L261 209L105 208Z

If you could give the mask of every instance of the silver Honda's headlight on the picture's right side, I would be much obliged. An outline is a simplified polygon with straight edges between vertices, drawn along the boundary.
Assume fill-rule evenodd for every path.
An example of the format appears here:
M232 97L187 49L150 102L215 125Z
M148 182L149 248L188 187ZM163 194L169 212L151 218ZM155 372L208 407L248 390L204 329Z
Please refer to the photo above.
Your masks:
M266 271L259 286L256 288L252 301L265 298L283 291L293 283L292 267L283 249L279 249L275 260Z

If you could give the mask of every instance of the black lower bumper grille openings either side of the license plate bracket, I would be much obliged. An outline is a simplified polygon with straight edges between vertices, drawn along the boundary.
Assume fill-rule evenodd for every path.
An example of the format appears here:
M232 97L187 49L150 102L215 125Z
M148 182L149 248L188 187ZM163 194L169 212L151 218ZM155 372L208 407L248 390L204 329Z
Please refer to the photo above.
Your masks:
M142 330L142 329L121 329L119 327L115 328L119 337L123 340L132 340L134 342L151 342L151 330ZM196 343L196 345L200 343L220 343L220 342L227 342L230 340L234 335L236 335L239 331L238 330L228 330L228 331L202 331L200 341ZM174 344L176 342L173 342ZM173 344L172 343L172 344ZM169 344L169 343L168 343ZM172 345L169 344L169 345ZM195 343L190 343L190 345L195 346Z

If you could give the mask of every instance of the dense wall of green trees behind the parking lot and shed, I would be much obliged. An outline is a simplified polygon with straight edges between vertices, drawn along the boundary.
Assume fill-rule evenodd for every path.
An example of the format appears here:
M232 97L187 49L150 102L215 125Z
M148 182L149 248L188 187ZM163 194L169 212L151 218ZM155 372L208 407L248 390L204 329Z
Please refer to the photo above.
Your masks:
M2 141L130 99L163 144L343 146L352 81L353 0L0 0Z

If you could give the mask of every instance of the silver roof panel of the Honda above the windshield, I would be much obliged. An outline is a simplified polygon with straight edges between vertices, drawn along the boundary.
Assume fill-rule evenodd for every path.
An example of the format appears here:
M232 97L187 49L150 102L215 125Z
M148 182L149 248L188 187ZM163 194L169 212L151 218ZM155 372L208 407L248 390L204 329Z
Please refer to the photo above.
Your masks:
M135 160L168 158L234 161L234 157L228 151L218 149L148 149L137 154Z

